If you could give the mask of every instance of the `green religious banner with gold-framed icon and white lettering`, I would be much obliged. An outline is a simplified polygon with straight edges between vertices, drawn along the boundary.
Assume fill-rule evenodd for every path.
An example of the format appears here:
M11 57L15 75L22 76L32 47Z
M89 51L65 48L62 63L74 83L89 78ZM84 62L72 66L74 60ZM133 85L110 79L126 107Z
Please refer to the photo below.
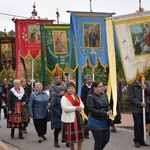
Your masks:
M46 61L50 72L56 71L56 68L64 71L68 66L69 30L67 24L44 26Z

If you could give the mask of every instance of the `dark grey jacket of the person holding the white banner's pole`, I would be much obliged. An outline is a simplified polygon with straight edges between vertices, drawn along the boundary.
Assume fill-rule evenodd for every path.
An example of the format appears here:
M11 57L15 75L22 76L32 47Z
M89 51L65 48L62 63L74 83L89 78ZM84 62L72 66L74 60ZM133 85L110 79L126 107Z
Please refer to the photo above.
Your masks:
M147 85L147 83L145 83ZM143 107L141 107L142 103L142 84L138 81L134 81L132 84L128 85L128 99L130 102L132 113L142 113ZM145 111L149 111L149 107L147 104L148 93L150 93L150 88L147 86L147 89L144 92L145 95L145 103L146 108Z

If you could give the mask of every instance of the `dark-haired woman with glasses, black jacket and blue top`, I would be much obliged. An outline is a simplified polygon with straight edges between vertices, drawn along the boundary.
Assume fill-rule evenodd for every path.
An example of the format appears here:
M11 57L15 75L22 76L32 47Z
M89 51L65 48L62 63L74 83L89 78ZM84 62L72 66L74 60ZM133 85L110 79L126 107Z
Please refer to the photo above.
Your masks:
M88 126L94 137L94 150L103 150L110 139L109 115L112 114L103 83L94 81L87 97Z

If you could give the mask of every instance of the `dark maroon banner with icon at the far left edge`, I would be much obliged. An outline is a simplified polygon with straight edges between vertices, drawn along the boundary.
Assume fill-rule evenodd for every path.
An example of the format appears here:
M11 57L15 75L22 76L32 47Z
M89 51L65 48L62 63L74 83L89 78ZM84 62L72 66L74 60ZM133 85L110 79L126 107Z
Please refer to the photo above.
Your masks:
M15 38L0 37L0 71L15 70Z

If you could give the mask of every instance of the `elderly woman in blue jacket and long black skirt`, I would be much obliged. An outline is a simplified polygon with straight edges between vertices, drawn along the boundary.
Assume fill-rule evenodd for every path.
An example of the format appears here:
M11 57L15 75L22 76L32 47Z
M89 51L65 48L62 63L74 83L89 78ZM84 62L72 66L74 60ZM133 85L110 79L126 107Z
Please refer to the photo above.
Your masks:
M28 114L33 119L35 130L38 134L38 143L42 139L47 140L44 136L47 132L46 109L48 106L48 96L43 91L41 83L36 83L35 91L31 93L28 103Z

